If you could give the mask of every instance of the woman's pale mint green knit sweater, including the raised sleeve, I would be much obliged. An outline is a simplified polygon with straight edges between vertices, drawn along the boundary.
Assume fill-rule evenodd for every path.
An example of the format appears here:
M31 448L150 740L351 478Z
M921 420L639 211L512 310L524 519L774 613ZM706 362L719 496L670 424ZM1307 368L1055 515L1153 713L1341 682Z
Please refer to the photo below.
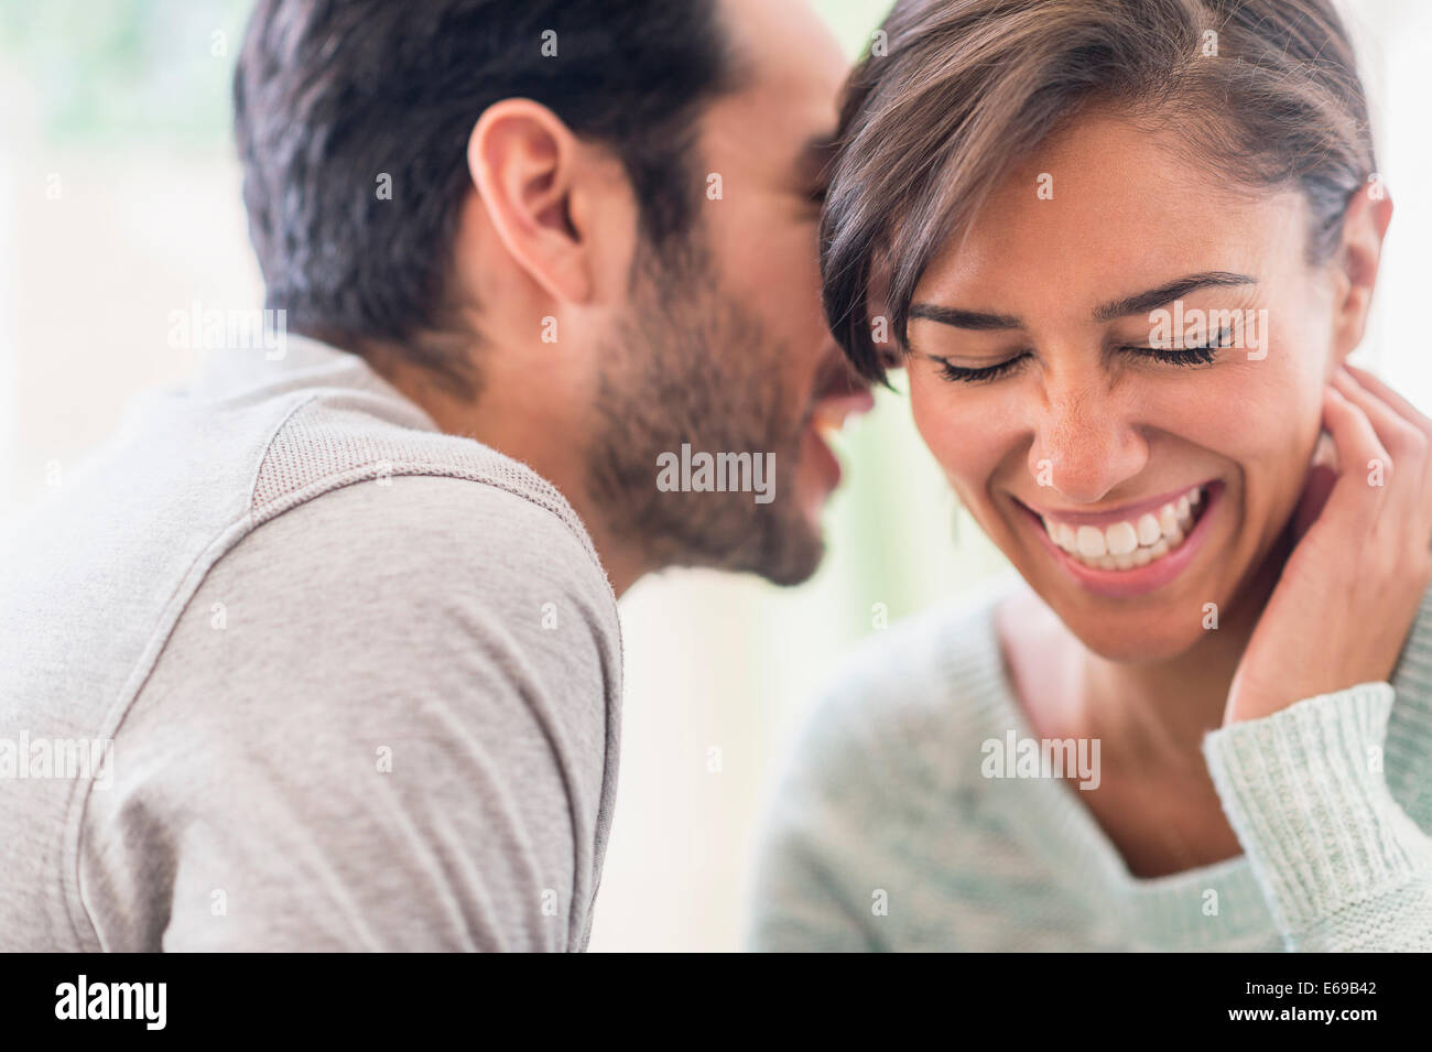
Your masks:
M1053 777L981 774L1032 739L1002 670L1011 587L882 633L841 670L773 797L763 950L1432 950L1432 593L1393 676L1210 731L1243 854L1130 875Z

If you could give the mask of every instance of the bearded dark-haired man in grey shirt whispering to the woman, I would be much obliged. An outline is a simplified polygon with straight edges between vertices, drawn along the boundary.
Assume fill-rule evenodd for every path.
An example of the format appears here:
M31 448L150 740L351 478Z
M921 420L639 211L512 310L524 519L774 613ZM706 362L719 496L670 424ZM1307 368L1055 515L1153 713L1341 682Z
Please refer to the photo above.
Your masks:
M869 406L819 308L842 74L803 0L261 0L302 335L6 538L6 949L586 948L616 597L806 578Z

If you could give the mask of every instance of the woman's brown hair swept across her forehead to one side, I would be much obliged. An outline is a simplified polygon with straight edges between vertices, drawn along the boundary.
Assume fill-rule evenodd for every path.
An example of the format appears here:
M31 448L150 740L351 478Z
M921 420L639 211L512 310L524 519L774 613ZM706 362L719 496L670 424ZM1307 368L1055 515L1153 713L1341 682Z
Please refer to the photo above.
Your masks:
M1300 187L1313 262L1376 172L1368 103L1330 0L899 0L851 77L822 223L831 329L884 379L889 333L945 240L1078 110L1176 123L1189 159L1252 187Z

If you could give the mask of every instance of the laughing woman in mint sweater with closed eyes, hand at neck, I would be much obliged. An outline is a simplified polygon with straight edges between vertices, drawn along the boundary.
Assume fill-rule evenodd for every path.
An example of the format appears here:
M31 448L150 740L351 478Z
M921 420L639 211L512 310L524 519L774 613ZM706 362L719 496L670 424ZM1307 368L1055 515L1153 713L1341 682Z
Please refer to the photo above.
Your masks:
M753 945L1432 949L1432 425L1345 366L1392 210L1345 27L901 0L884 29L828 315L863 375L902 359L1024 584L836 677Z

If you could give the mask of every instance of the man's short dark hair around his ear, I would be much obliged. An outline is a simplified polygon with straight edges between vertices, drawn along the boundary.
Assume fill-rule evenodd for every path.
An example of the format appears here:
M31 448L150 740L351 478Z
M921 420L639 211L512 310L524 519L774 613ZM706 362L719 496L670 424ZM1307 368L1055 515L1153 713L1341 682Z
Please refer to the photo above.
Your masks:
M610 146L662 253L696 213L686 169L695 120L729 79L725 42L716 0L259 0L233 109L266 306L295 332L388 346L471 389L434 336L451 322L477 119L533 99Z

